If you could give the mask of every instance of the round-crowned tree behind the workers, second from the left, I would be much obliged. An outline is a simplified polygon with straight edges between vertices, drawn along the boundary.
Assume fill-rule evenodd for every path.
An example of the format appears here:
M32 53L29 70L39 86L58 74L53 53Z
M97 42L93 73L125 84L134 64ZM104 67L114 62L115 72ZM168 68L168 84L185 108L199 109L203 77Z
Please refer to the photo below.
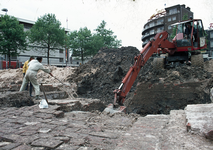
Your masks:
M38 18L29 32L31 43L41 46L47 53L47 63L49 65L50 51L63 49L66 44L65 29L60 27L60 21L56 20L54 14L45 14Z

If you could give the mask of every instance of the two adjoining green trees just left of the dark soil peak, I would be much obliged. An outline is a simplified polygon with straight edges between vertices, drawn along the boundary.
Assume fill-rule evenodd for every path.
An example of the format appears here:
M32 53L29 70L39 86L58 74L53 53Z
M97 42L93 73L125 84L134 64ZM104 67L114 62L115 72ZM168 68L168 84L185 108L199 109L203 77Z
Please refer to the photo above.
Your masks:
M80 57L83 63L86 57L92 57L102 47L118 48L121 41L117 40L117 36L113 35L111 30L105 29L106 22L95 29L96 33L92 34L89 29L80 28L79 31L69 33L69 47L72 49L72 56Z

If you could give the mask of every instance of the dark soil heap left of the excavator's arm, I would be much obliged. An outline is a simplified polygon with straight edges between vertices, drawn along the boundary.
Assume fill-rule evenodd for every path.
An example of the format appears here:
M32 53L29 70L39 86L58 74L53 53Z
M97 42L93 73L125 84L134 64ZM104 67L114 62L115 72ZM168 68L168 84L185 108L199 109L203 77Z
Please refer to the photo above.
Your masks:
M131 60L139 51L135 47L119 49L103 48L92 60L79 66L68 77L68 81L78 83L80 97L101 99L105 104L113 102L113 91L119 87L129 70Z

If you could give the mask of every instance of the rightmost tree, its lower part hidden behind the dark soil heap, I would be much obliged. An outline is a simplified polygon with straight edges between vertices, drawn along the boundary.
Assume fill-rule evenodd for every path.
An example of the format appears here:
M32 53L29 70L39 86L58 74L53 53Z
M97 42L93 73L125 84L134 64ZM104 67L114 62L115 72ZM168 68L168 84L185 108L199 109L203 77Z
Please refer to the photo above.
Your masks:
M97 36L100 36L103 40L103 47L118 48L121 46L121 40L117 40L117 36L113 35L114 32L112 30L105 29L105 27L106 22L102 20L97 29L95 29Z

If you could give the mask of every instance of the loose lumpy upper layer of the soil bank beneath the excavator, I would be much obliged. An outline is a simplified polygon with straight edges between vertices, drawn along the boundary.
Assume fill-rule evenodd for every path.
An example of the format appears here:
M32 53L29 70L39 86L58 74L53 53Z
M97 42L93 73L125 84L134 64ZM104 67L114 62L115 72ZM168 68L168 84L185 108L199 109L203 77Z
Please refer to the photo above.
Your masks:
M138 76L139 82L151 82L152 84L158 82L179 84L183 82L205 80L212 77L212 72L209 72L206 67L203 69L200 67L192 67L182 64L175 68L156 71L153 70L152 62L153 58L150 58L141 69ZM207 64L211 64L211 62L213 61L210 60L210 62L205 62L205 66L207 66Z

